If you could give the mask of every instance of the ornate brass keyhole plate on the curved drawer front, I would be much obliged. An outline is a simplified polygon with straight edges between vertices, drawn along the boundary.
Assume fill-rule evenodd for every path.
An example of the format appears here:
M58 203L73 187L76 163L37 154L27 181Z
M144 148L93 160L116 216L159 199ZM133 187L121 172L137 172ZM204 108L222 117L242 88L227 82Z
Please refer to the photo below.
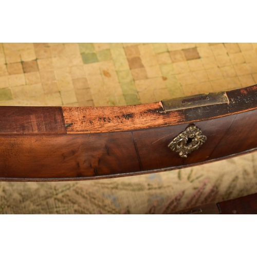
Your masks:
M190 126L175 137L168 146L172 151L179 153L180 157L186 158L188 154L197 150L206 139L207 137L201 135L201 131L198 127Z

